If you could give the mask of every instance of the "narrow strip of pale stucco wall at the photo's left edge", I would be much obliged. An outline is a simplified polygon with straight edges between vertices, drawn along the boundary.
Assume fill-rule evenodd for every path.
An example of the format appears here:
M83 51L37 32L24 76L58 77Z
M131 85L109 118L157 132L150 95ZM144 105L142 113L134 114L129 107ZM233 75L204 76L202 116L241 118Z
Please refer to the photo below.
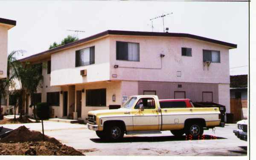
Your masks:
M8 29L0 24L0 79L7 76L7 41L8 41Z

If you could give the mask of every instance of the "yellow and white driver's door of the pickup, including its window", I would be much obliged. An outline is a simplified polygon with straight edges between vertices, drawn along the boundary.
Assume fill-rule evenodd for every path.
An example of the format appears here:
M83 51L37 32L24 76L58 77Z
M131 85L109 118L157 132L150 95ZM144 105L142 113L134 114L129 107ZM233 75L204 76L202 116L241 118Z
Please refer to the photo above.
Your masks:
M143 105L144 111L141 111ZM152 97L141 98L133 110L134 131L159 130L159 116L155 99Z

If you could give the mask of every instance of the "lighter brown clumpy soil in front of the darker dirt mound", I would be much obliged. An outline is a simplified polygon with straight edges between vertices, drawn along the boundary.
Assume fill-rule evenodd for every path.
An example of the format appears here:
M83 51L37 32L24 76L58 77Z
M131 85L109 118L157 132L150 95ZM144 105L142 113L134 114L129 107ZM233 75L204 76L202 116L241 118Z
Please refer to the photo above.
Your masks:
M84 156L72 147L51 142L0 143L0 155Z

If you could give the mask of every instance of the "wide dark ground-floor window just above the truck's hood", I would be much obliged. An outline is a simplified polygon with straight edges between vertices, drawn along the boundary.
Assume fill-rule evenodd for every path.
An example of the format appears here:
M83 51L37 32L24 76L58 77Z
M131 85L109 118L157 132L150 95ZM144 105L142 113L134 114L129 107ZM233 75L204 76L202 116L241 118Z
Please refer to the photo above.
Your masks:
M106 106L106 88L86 90L86 106Z

